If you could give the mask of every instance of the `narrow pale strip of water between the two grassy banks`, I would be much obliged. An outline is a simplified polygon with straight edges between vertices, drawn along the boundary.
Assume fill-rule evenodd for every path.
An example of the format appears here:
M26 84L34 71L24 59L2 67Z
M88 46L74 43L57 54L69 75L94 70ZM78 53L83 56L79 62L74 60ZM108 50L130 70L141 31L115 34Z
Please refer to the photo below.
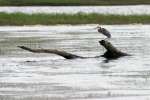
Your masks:
M150 5L130 5L130 6L25 6L25 7L0 7L0 12L14 13L66 13L75 14L99 13L99 14L119 14L119 15L143 15L150 14Z

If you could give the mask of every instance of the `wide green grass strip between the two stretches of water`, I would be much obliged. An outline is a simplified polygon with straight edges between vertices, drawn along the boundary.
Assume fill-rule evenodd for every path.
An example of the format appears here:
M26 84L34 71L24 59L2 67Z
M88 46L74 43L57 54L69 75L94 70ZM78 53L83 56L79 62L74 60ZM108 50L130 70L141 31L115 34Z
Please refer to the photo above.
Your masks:
M150 15L0 13L0 25L132 24L150 23Z

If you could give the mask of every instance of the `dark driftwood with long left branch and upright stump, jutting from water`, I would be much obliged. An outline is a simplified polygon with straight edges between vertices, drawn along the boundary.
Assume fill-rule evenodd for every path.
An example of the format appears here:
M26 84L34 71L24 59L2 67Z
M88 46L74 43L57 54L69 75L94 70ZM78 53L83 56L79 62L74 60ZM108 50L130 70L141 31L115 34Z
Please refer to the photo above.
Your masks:
M107 50L104 55L102 55L102 57L108 58L108 59L113 59L113 58L118 58L121 56L127 56L128 54L123 53L121 51L119 51L117 48L115 48L110 42L106 41L106 40L101 40L99 41L100 45L102 45L103 47L105 47L105 49ZM81 57L78 55L74 55L65 51L59 51L59 50L55 50L55 49L31 49L25 46L18 46L19 48L22 48L24 50L33 52L33 53L53 53L56 55L60 55L66 59L75 59L75 58L86 58L86 57ZM100 57L100 56L97 56Z

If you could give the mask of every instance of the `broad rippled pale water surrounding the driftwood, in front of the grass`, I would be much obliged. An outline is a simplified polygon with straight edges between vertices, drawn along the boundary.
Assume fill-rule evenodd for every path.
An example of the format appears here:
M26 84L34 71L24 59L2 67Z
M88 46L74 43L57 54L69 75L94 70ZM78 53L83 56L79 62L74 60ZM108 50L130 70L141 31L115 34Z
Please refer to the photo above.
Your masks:
M93 57L105 52L96 25L1 26L1 100L149 100L150 25L103 25L132 56L67 60L17 48L52 48Z

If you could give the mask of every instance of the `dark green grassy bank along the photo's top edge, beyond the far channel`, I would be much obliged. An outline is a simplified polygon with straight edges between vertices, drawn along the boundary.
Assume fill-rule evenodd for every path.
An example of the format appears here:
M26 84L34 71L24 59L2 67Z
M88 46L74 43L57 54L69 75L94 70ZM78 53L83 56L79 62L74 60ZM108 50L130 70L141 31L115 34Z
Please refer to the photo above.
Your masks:
M0 6L68 6L68 5L133 5L150 4L150 0L0 0Z

